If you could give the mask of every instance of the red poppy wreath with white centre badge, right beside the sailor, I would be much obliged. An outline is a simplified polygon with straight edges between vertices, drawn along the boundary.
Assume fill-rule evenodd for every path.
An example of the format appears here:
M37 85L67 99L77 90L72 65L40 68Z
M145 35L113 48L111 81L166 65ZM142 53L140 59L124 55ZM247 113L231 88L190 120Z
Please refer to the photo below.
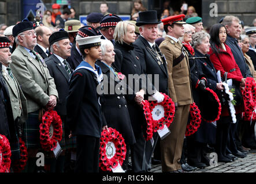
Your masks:
M110 127L108 129L109 131L101 132L99 167L102 171L112 171L118 166L118 163L122 166L127 151L121 133Z

